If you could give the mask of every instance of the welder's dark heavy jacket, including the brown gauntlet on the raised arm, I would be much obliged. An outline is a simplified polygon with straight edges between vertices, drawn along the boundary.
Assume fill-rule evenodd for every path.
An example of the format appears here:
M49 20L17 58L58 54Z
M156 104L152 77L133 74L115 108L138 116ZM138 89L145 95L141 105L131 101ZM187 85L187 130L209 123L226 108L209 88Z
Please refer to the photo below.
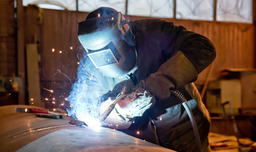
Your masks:
M192 82L215 59L213 44L200 34L162 19L131 21L129 25L138 52L138 69L133 76L155 96L156 103L142 117L136 117L129 128L120 131L176 151L197 151L187 112L170 96L169 89L174 88L188 101L203 151L207 151L209 113ZM109 84L110 81L117 82L113 78Z

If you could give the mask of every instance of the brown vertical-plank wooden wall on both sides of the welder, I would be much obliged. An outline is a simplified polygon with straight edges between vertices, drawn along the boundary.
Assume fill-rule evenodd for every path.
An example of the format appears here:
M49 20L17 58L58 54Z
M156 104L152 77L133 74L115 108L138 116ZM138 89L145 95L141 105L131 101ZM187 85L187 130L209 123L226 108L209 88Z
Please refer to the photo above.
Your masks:
M71 88L76 79L79 51L83 51L77 39L77 23L84 21L87 12L43 9L42 24L36 23L38 10L25 8L25 44L33 43L36 35L38 52L41 55L41 85L48 89ZM126 16L129 20L143 17ZM226 68L256 68L255 25L209 21L177 20L176 25L207 37L216 47L217 57L210 80L216 80ZM70 49L73 47L73 49ZM52 49L54 48L54 52ZM59 53L62 51L62 53ZM58 70L65 74L61 74ZM209 71L207 67L198 77L196 84L202 85ZM72 81L72 83L70 82ZM64 82L64 83L63 83ZM42 90L44 92L45 90ZM67 93L70 90L67 91ZM44 94L44 93L43 93ZM47 93L46 93L47 94Z

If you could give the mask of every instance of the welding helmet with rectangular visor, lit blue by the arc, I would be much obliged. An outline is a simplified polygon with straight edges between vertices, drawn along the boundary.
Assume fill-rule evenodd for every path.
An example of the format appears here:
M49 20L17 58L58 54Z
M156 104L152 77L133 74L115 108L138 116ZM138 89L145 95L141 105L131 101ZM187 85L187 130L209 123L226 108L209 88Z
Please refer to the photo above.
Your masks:
M95 10L96 17L78 23L78 39L105 76L124 76L137 67L135 36L121 12L102 12Z

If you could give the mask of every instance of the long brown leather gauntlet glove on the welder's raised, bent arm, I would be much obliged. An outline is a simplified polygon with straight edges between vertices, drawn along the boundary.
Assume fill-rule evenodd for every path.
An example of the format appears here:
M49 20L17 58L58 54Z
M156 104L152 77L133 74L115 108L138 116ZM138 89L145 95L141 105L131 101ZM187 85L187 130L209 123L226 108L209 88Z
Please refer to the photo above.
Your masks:
M166 100L170 97L170 89L178 89L197 79L197 71L193 64L177 51L163 63L156 73L150 74L137 85L154 95L157 99Z

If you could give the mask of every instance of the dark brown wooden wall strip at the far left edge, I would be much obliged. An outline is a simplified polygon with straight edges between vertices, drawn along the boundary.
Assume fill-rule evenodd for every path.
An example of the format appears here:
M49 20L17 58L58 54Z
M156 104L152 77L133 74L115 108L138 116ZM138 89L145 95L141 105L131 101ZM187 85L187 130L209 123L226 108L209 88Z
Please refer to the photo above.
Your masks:
M14 1L0 1L0 88L4 90L2 77L17 76L16 28L14 18ZM0 106L18 104L18 93L1 92Z

